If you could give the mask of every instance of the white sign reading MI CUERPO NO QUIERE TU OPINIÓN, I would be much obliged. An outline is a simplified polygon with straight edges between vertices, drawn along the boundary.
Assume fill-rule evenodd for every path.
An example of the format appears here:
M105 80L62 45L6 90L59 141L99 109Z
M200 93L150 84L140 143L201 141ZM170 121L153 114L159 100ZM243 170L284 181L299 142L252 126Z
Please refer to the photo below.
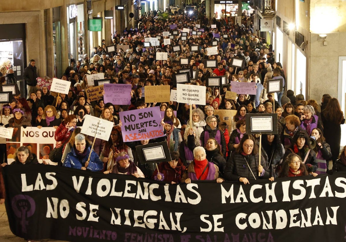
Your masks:
M177 102L206 105L206 87L176 84Z

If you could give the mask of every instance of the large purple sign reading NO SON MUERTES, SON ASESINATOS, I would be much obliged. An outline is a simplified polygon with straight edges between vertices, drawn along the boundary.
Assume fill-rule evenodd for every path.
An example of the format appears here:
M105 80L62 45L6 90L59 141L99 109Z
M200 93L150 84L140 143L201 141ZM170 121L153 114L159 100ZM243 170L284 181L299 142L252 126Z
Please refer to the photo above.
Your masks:
M164 136L159 106L119 112L119 115L124 142Z

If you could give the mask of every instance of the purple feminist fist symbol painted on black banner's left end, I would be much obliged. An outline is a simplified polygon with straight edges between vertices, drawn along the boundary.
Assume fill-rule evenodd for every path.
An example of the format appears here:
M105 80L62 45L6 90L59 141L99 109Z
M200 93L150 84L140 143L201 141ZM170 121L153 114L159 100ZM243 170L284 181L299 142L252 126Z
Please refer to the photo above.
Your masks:
M34 214L35 208L35 201L32 197L20 194L12 198L12 209L15 215L21 218L20 225L23 233L27 233L26 226L29 223L26 219Z

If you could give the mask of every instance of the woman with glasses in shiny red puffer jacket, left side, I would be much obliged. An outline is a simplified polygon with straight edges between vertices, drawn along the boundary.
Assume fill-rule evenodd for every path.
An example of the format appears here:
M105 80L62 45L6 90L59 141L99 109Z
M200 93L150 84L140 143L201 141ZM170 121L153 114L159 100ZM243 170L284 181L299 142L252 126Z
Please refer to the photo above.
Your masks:
M56 141L55 148L65 145L71 137L73 130L76 128L77 116L70 114L66 119L56 128L54 139Z

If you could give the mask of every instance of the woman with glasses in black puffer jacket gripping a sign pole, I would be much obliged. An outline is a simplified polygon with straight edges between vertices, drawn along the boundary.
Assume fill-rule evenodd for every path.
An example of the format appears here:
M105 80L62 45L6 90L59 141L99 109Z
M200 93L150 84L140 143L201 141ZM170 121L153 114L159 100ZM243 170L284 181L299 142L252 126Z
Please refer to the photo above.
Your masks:
M250 184L250 180L269 178L267 161L261 155L255 138L251 134L245 134L240 140L239 146L232 152L226 164L225 178L229 181L239 181Z

